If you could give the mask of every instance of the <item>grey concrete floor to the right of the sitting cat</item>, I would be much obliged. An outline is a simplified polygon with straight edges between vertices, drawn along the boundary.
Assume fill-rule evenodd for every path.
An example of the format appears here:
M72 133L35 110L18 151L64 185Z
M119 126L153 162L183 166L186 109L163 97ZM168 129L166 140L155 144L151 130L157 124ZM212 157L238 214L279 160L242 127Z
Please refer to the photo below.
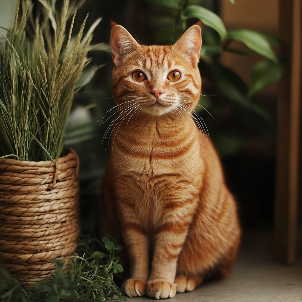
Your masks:
M302 258L294 265L279 263L267 252L269 242L268 232L245 232L230 277L205 282L192 292L176 294L173 301L302 301ZM147 297L128 298L129 302L150 300Z

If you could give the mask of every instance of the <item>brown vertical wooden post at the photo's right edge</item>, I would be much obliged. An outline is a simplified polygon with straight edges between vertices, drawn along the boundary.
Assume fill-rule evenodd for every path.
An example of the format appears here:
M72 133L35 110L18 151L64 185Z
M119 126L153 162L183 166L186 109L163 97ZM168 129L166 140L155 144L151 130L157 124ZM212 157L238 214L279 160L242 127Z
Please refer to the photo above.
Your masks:
M274 204L274 256L293 263L297 254L301 100L302 0L279 0L279 37L286 68L279 85Z

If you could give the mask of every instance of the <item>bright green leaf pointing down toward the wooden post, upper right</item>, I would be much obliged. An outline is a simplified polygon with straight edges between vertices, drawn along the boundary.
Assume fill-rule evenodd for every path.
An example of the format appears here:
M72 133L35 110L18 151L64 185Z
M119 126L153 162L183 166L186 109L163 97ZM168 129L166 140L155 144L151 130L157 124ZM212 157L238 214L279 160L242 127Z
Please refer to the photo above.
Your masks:
M255 51L255 53L274 61L276 64L278 63L277 57L271 49L270 43L263 34L248 29L236 29L228 31L227 37L228 39L241 41L249 47L249 49Z

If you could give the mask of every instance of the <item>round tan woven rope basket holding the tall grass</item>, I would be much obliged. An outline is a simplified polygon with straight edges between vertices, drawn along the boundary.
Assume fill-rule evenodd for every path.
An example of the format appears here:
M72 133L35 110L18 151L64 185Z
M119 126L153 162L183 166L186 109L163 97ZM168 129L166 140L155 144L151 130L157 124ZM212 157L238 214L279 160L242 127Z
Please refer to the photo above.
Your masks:
M30 285L71 256L79 225L79 159L0 159L0 266Z

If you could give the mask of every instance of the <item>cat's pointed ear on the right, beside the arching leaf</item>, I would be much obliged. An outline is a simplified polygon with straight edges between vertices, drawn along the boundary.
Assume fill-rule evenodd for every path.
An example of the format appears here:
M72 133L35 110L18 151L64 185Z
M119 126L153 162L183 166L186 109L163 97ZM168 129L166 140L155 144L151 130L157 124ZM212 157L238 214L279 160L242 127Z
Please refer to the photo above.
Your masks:
M183 54L196 66L201 49L201 21L189 27L172 46L173 50Z

